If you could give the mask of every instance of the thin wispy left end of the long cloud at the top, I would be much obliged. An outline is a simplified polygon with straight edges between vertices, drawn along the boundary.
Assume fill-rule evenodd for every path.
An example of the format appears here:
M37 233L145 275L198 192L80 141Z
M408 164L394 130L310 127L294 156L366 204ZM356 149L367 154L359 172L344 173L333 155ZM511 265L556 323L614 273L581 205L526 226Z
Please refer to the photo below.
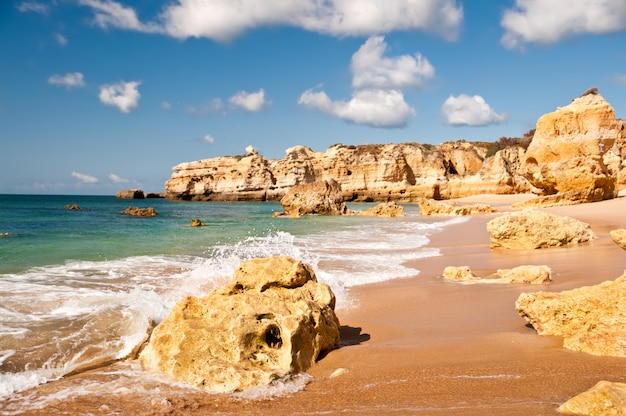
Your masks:
M145 33L162 31L156 23L142 23L133 8L113 0L79 0L78 3L91 7L94 12L94 23L103 29L117 27Z

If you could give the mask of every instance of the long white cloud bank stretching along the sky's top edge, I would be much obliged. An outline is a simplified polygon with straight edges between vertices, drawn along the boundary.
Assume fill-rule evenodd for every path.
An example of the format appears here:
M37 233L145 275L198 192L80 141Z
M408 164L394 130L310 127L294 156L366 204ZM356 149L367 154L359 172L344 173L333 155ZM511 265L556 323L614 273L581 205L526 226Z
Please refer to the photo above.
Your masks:
M80 0L99 26L163 32L185 39L225 42L260 26L293 26L333 36L363 36L394 30L426 30L458 36L463 8L457 0L177 0L158 23L142 23L130 7L112 0Z

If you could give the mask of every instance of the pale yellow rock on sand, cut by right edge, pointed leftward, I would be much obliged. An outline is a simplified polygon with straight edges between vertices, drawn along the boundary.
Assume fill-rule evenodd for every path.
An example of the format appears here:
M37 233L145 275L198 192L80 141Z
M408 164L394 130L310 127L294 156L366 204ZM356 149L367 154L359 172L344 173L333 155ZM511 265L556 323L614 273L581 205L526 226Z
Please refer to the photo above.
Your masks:
M616 280L560 293L522 293L517 313L539 335L593 355L626 357L626 273Z

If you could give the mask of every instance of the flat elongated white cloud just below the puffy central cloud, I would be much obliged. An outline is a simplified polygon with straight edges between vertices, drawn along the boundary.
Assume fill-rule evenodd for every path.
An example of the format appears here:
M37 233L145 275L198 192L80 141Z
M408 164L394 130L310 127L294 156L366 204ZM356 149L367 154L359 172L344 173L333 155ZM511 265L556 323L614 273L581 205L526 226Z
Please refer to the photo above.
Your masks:
M300 96L298 104L344 121L374 127L402 127L415 114L398 90L358 90L350 101L331 101L323 91L308 90Z

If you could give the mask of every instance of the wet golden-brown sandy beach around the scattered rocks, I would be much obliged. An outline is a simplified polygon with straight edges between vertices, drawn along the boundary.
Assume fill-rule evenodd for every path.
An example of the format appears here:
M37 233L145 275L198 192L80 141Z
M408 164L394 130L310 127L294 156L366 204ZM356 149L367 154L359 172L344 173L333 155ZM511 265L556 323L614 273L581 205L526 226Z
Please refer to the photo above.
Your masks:
M505 211L526 195L481 195ZM626 228L626 198L543 209L591 224L597 239L576 247L505 251L489 248L486 223L473 216L431 238L442 255L412 263L412 278L352 290L358 306L338 311L342 347L309 370L306 388L271 399L209 395L154 381L133 389L120 376L131 364L66 377L24 397L53 397L29 414L419 414L552 415L600 380L626 382L626 359L562 348L538 336L516 313L522 292L562 291L613 280L626 252L609 231ZM479 276L524 264L548 265L549 285L461 285L439 276L446 266L470 266ZM71 389L93 394L67 394ZM1 408L0 408L1 411Z

